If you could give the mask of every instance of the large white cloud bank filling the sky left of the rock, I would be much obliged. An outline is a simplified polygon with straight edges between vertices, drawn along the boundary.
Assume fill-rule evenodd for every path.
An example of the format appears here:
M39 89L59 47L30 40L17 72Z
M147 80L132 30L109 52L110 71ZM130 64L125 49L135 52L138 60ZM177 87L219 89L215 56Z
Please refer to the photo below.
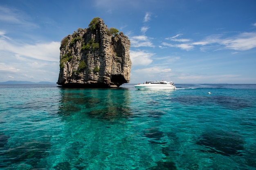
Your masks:
M60 42L24 44L0 32L0 79L55 82L58 79Z

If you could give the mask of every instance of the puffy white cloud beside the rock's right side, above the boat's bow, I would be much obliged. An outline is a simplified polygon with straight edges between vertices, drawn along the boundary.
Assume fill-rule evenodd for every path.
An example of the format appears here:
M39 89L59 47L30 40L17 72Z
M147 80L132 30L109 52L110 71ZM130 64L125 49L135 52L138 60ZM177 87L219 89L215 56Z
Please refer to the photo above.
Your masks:
M130 51L130 59L132 60L132 65L142 65L147 66L149 65L153 60L150 59L154 53L148 53L145 51Z

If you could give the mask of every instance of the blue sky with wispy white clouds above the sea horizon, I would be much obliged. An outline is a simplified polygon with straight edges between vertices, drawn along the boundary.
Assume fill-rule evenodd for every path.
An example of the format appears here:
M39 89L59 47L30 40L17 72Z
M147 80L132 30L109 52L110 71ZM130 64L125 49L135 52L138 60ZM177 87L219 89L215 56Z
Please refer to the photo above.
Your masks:
M95 17L128 36L130 83L256 84L255 0L0 0L0 82L57 82L61 40Z

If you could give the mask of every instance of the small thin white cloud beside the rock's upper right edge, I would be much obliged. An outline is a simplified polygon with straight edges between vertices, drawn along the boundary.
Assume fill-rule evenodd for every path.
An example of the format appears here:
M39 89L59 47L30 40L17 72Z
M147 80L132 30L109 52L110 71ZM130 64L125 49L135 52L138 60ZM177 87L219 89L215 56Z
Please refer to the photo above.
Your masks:
M149 38L145 35L133 36L130 37L131 46L140 47L140 46L148 46L155 47L151 42L152 38Z

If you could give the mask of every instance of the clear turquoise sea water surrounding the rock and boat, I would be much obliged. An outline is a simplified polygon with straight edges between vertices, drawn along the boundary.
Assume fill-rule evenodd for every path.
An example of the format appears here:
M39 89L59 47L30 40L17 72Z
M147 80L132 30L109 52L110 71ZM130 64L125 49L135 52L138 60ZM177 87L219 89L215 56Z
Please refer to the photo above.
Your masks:
M256 170L256 85L176 86L0 85L0 169Z

